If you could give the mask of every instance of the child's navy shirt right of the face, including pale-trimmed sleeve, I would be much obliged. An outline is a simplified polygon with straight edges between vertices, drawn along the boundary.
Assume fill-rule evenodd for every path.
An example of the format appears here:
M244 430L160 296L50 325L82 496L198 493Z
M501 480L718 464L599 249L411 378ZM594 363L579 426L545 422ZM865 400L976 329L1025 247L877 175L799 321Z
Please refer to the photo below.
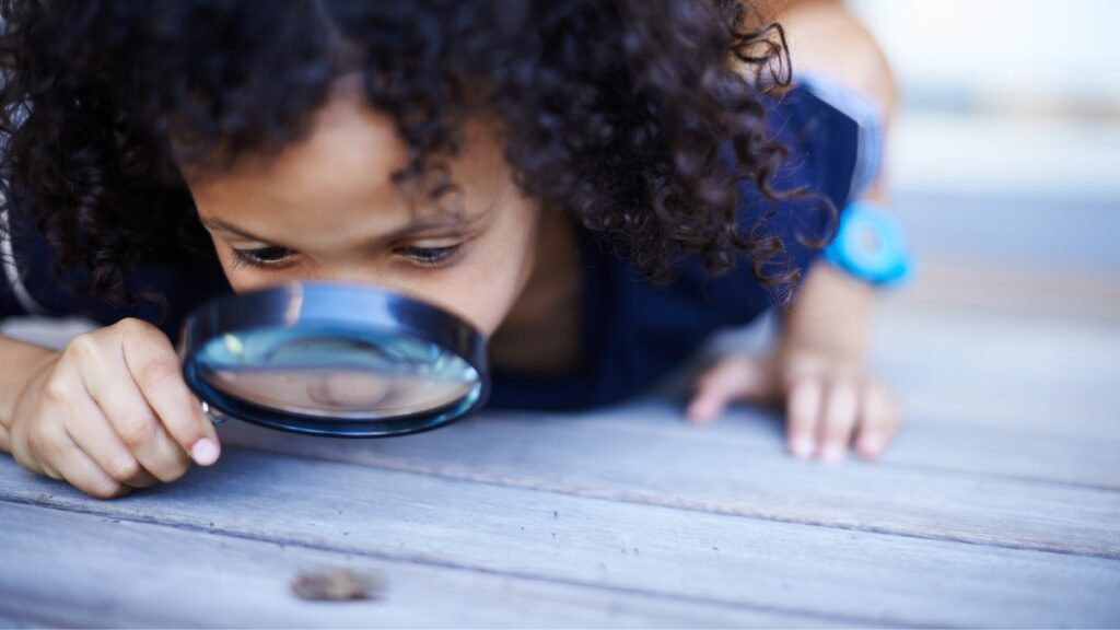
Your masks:
M772 111L769 128L791 151L774 187L804 187L819 195L778 204L763 234L782 238L785 263L803 276L821 253L806 243L831 235L831 215L821 195L840 212L877 169L876 114L856 99L834 84L814 83L813 90L791 91ZM741 193L739 221L745 232L759 213L774 206L750 184L744 184ZM680 367L716 330L747 324L777 299L755 279L748 260L740 260L731 272L712 276L699 257L692 257L675 281L654 285L606 253L587 231L578 233L584 363L559 378L495 371L492 407L579 409L626 399Z

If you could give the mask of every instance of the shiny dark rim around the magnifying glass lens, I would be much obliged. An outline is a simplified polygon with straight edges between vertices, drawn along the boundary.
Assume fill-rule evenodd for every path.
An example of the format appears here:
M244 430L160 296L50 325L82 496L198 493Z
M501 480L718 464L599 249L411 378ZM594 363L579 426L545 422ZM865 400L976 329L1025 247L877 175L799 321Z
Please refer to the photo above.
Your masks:
M324 420L311 414L258 405L215 388L204 377L199 353L216 339L252 330L324 326L337 333L361 331L403 334L458 356L478 374L463 398L414 414ZM253 424L309 435L390 437L430 430L463 418L486 404L489 368L486 340L470 324L433 305L366 285L289 282L226 295L193 311L183 325L183 373L194 392L222 414Z

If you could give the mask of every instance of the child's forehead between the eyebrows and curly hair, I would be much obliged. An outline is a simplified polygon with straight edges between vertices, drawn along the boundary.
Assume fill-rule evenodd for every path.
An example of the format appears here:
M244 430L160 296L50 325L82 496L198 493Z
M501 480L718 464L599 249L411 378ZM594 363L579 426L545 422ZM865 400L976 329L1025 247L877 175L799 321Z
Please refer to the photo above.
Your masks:
M488 129L468 120L464 154L448 160L459 192L437 201L402 194L393 176L407 165L408 149L395 121L353 92L338 93L316 112L297 143L244 156L221 173L187 166L184 176L199 215L211 223L277 242L342 247L340 239L357 243L417 223L455 224L485 210L486 192L508 169ZM465 200L468 192L474 203Z

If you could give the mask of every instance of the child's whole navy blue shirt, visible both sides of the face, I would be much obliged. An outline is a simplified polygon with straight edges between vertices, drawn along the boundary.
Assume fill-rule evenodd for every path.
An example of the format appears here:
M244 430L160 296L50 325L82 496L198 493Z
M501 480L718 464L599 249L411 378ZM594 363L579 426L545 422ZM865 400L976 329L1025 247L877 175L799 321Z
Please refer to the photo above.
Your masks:
M769 129L791 151L775 188L804 187L841 210L874 169L870 163L877 155L869 148L875 148L875 140L868 138L877 130L872 119L853 113L857 110L841 102L844 94L834 87L812 82L790 91L773 104ZM774 207L753 186L743 186L739 219L744 230L755 225L760 212ZM827 237L828 217L821 198L810 195L777 204L766 230L782 238L788 253L786 263L804 274L820 253L804 240ZM50 248L41 238L26 238L32 233L15 232L11 245L22 287L12 286L9 266L0 277L0 317L37 312L80 315L108 325L132 316L157 323L175 340L193 307L232 291L213 257L142 267L129 278L128 286L152 287L166 296L169 313L156 322L158 312L150 305L120 307L59 287L48 268ZM755 280L747 260L731 272L711 276L699 259L690 258L672 284L655 285L607 253L587 231L578 234L584 281L579 354L584 363L564 377L495 371L492 407L575 409L625 399L679 367L717 328L747 324L774 304L774 296Z

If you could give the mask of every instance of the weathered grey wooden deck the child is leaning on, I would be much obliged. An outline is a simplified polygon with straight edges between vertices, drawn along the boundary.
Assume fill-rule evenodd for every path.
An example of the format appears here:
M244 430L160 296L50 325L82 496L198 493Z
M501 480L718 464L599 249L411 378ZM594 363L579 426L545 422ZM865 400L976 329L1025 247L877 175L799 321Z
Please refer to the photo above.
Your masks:
M1120 299L931 277L876 326L877 464L795 461L758 410L693 428L672 388L386 441L232 421L114 501L0 457L0 626L1120 626ZM293 593L338 568L374 599Z

